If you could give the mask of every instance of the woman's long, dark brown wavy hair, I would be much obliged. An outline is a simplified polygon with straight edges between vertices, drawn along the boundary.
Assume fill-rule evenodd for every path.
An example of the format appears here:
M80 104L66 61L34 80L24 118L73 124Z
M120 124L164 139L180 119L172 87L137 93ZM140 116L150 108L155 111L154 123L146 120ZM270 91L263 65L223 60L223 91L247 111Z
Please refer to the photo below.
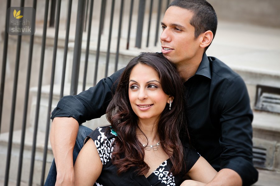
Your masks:
M115 139L112 163L118 168L118 174L130 167L136 167L138 175L145 175L150 168L144 162L144 148L137 138L137 130L141 131L138 117L133 112L128 98L129 76L137 64L152 67L158 73L162 90L174 97L171 110L169 104L166 104L161 113L157 133L164 152L172 164L176 165L172 166L170 172L173 175L179 174L185 167L181 140L185 138L189 141L184 117L184 85L175 65L161 53L141 53L128 63L120 76L119 84L106 111L107 120L118 135Z

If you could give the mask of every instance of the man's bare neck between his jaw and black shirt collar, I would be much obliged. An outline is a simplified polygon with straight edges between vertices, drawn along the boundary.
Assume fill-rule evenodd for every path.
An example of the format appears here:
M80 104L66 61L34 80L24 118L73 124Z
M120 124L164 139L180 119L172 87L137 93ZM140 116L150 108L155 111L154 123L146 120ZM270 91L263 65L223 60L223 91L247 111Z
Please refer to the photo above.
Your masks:
M202 57L203 55L177 65L180 76L184 79L184 82L188 81L188 79L196 73L201 63Z

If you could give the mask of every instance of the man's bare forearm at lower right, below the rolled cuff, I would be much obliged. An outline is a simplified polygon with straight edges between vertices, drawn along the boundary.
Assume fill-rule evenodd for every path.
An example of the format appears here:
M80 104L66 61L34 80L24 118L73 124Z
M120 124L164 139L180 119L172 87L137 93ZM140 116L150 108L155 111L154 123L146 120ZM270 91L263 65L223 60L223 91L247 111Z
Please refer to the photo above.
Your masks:
M231 169L222 169L206 186L241 186L242 179L237 172Z

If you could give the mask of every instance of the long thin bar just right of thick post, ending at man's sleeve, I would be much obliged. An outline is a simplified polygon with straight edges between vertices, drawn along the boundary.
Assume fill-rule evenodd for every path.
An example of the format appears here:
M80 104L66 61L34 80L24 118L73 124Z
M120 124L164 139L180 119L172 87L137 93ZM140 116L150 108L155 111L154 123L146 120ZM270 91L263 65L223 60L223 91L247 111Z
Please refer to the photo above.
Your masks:
M90 39L91 39L92 11L93 11L93 0L91 0L90 15L89 15L89 20L88 20L88 32L87 32L87 41L86 41L86 59L85 59L84 79L83 79L83 91L86 89L86 72L87 72L88 55L89 55L89 43L90 43Z

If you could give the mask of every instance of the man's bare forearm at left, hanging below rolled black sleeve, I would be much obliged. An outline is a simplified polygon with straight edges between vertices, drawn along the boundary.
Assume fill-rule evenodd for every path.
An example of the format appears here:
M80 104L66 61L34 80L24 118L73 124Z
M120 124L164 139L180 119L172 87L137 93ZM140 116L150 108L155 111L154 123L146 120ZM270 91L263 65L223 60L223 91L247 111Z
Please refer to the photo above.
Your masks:
M73 149L79 130L72 117L55 117L50 131L50 142L57 170L55 185L74 185Z

